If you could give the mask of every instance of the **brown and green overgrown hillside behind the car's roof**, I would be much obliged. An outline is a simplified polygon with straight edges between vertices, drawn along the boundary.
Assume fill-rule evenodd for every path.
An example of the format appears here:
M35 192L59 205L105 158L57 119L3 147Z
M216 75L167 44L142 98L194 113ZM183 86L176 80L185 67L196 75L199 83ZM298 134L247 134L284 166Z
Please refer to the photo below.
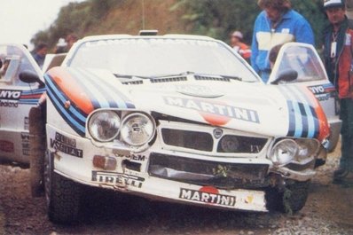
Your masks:
M292 0L296 11L311 23L319 43L325 24L322 0ZM60 37L130 34L159 29L160 34L209 35L226 41L232 30L241 30L251 42L257 0L87 0L61 8L51 27L38 32L32 43L53 47ZM145 15L145 18L143 17Z

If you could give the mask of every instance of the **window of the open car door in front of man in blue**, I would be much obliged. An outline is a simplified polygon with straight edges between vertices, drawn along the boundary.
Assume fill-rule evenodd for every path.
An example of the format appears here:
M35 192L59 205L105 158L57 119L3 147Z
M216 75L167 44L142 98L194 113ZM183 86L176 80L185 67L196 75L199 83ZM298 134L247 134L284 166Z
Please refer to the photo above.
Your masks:
M298 78L295 82L312 82L326 80L326 73L322 67L321 60L312 48L291 45L284 46L278 56L278 73L286 70L295 70Z

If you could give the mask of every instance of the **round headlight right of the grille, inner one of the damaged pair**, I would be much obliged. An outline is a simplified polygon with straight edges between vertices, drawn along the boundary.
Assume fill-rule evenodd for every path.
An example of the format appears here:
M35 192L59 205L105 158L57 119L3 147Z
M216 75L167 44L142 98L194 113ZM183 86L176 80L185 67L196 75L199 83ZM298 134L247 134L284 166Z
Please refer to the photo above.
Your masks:
M275 165L286 165L294 160L294 157L298 153L298 149L299 147L293 139L281 140L274 145L271 150L271 161Z

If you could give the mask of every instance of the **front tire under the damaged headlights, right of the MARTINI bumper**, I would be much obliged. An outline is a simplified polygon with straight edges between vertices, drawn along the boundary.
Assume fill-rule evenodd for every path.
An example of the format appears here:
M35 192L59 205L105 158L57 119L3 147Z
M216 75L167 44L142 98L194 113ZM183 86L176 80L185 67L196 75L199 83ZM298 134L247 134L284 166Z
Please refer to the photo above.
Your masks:
M283 213L293 214L300 211L308 200L310 181L294 182L285 189L270 188L266 192L267 208Z

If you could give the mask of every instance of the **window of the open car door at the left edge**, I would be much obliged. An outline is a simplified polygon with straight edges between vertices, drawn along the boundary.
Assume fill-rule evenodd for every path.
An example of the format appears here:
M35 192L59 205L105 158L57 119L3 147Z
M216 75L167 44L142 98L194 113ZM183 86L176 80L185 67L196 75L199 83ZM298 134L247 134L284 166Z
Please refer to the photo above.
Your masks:
M0 82L5 85L26 86L28 83L20 81L20 73L27 70L36 74L35 67L28 59L28 55L24 49L14 46L0 46ZM31 84L35 86L35 84Z

